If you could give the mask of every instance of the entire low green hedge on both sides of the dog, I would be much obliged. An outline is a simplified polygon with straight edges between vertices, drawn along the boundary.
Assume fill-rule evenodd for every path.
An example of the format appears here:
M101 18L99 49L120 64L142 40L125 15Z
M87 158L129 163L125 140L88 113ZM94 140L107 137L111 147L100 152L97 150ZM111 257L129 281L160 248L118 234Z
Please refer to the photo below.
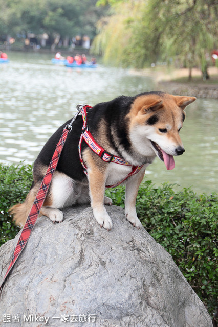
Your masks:
M0 164L0 244L14 238L19 228L8 209L23 202L32 183L32 165ZM175 185L161 187L143 181L137 196L138 216L154 239L176 262L209 313L217 299L217 194L196 195L190 189L174 191ZM125 187L107 189L113 203L124 207Z

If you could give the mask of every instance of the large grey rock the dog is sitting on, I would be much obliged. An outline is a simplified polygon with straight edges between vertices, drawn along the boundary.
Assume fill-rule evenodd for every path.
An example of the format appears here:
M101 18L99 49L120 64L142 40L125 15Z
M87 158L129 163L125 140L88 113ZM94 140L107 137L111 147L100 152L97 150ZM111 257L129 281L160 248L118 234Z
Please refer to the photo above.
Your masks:
M45 318L58 327L211 327L203 303L163 247L130 225L121 208L107 211L110 232L85 206L64 211L60 224L38 219L4 285L1 323L7 314L11 323L3 325L13 327L45 326ZM0 249L0 279L17 240ZM87 321L70 322L73 317Z

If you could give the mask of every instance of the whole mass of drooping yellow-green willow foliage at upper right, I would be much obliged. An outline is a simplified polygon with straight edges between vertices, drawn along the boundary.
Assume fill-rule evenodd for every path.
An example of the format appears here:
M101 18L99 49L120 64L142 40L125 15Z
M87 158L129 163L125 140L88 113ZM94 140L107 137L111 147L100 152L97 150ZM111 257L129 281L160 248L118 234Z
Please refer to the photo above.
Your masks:
M111 2L113 2L111 0ZM177 58L189 68L202 68L217 42L217 0L124 0L99 23L94 43L104 60L141 68Z

